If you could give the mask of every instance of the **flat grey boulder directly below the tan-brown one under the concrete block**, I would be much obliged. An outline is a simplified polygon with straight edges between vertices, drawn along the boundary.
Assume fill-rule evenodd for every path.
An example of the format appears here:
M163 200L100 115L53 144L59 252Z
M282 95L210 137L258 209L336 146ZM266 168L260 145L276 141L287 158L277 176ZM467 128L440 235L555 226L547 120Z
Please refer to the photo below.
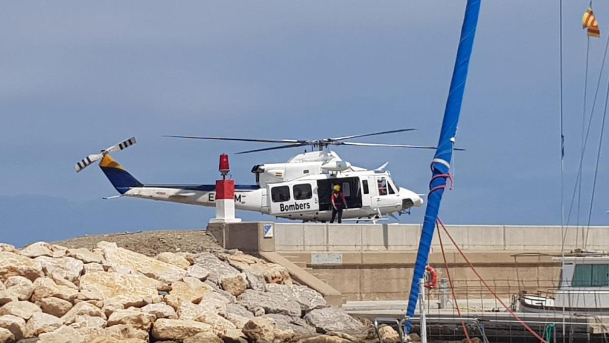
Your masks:
M248 289L237 297L237 303L254 312L256 308L263 308L265 313L286 314L300 317L300 304L283 294L253 291Z

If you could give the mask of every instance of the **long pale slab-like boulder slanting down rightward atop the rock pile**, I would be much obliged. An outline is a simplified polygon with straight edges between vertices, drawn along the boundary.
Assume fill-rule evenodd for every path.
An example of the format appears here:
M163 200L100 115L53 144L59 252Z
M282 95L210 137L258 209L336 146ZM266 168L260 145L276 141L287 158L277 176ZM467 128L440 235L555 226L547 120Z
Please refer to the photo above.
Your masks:
M105 264L114 270L139 272L166 283L173 283L186 276L186 270L173 264L125 248L118 248L116 244L100 243L98 246L104 252Z

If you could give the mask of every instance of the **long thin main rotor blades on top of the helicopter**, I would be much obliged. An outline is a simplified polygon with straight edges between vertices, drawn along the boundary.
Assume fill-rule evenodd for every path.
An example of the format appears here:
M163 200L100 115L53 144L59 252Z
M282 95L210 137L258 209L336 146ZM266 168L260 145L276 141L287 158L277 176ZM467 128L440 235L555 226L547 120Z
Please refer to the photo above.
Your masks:
M277 150L285 148L296 148L300 146L311 146L322 151L330 145L350 145L350 146L384 146L389 148L410 148L410 149L435 149L435 146L423 145L403 145L403 144L382 144L382 143L361 143L361 142L343 142L344 140L369 137L372 135L393 134L397 132L416 131L417 129L396 129L389 131L373 132L370 134L347 135L343 137L325 138L319 140L298 140L298 139L248 139L248 138L230 138L230 137L202 137L196 135L164 135L163 137L171 138L186 138L186 139L205 139L205 140L233 140L238 142L259 142L259 143L281 143L282 145L270 146L268 148L260 148L254 150L240 151L237 154L256 153L258 151ZM454 149L463 150L463 149Z

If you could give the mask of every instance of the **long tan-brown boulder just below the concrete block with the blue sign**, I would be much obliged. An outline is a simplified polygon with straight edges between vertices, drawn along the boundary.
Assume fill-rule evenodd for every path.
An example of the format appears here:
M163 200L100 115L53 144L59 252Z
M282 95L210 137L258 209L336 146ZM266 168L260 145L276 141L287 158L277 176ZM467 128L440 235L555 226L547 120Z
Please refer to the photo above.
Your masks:
M263 275L267 283L292 284L290 273L282 265L269 263L252 255L246 255L241 251L234 254L220 254L220 258L234 268L241 270L241 272Z

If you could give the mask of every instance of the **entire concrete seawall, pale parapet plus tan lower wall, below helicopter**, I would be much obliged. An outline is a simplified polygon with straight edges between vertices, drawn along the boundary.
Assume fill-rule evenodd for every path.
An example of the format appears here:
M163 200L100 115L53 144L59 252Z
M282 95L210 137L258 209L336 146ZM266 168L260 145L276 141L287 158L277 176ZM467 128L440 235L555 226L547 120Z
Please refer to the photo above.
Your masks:
M272 234L264 234L265 226ZM505 300L520 291L557 286L560 226L449 225L448 230L482 277ZM334 289L344 300L404 300L412 279L421 225L240 223L226 225L217 237L227 248L273 252ZM565 250L581 248L585 228L566 230ZM609 227L591 227L588 250L609 250ZM490 298L445 234L446 264L459 298ZM261 254L264 255L264 254ZM429 263L446 278L438 234ZM317 283L314 281L312 284ZM336 298L336 294L328 293ZM432 291L431 298L437 292Z

